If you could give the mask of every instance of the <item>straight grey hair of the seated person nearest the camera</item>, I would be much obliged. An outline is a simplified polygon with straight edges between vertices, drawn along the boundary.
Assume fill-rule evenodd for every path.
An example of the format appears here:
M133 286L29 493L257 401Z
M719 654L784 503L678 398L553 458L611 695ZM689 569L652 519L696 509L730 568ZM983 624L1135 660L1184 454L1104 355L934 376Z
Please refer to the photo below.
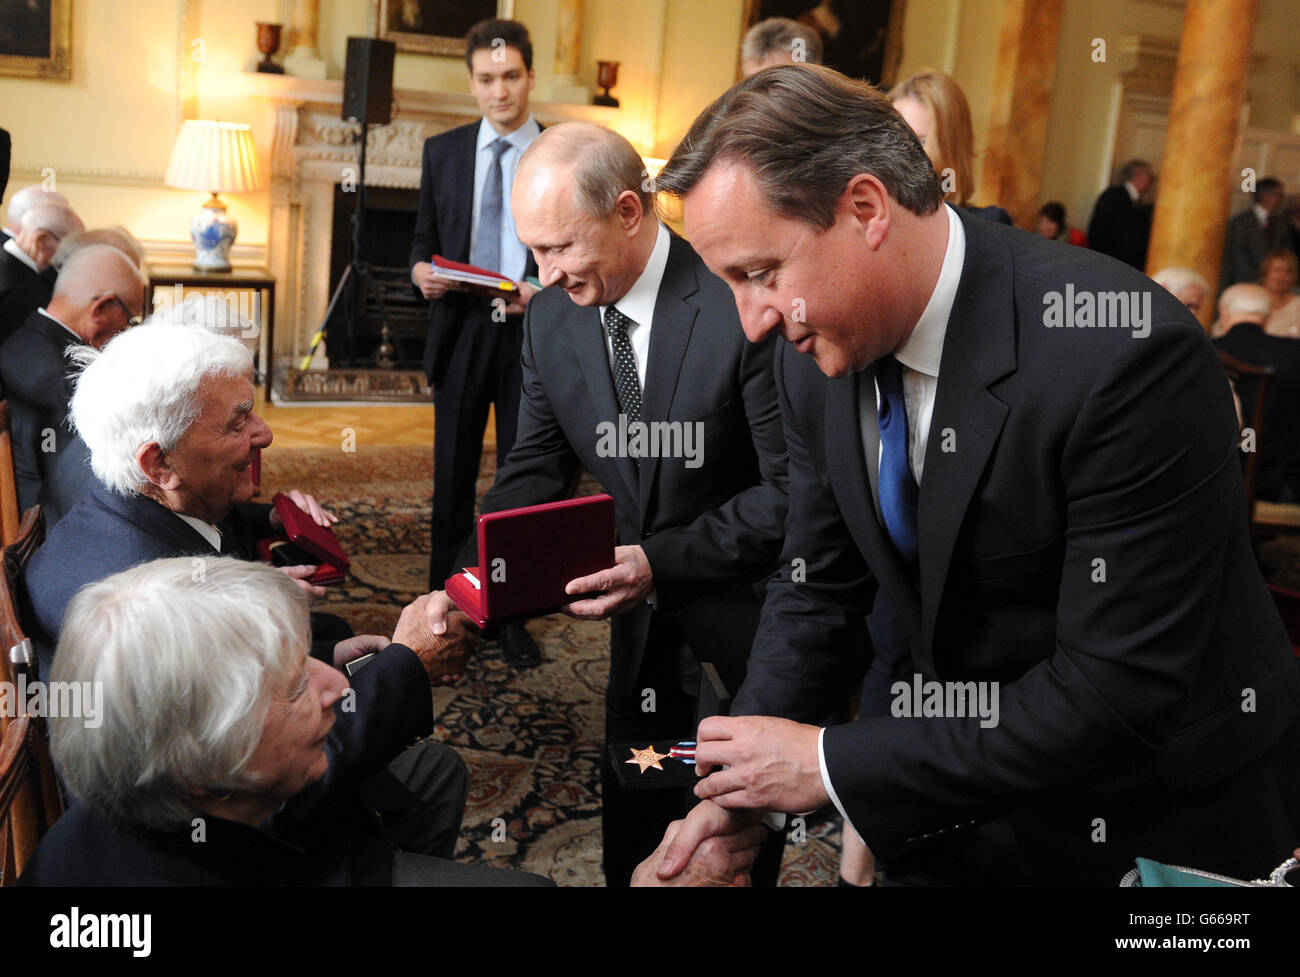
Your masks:
M188 825L196 789L256 791L247 767L277 692L306 664L307 599L231 557L155 560L83 587L64 615L53 682L99 682L98 725L49 720L68 787L110 821Z

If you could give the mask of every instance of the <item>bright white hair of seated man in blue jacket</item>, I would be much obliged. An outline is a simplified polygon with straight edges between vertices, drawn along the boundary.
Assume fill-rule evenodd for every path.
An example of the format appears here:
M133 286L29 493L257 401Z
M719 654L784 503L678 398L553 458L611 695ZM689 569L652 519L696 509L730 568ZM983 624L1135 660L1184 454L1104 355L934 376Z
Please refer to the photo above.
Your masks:
M205 377L252 374L252 355L242 343L202 329L136 326L103 351L78 347L69 359L82 368L73 425L95 474L121 495L139 492L148 481L135 461L142 444L174 451L199 420Z

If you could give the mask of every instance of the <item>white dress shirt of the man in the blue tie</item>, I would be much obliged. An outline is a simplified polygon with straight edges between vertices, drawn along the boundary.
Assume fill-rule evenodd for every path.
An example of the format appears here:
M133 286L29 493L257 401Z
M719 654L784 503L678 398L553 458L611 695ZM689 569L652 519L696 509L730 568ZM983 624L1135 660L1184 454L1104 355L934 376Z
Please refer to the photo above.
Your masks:
M911 335L897 349L893 356L902 364L902 394L907 411L907 461L911 473L920 485L920 477L926 466L926 447L930 444L930 422L935 413L935 396L939 392L939 361L944 353L944 336L948 334L948 320L953 312L953 303L957 300L957 286L962 278L962 268L966 264L966 230L961 218L952 207L944 204L948 213L948 248L944 252L944 264L939 269L939 279L935 290L930 294L926 309L916 320ZM863 451L867 455L867 465L872 473L880 470L880 455L884 444L879 437L876 426L880 404L880 388L875 383L866 383L858 378L858 416L862 427ZM875 446L875 452L870 447ZM871 491L875 496L876 514L880 513L880 499L876 490L879 478L871 479ZM826 752L822 741L826 730L818 735L816 755L822 768L822 786L831 796L844 822L852 825L849 815L840 803L831 783L829 773L826 769Z

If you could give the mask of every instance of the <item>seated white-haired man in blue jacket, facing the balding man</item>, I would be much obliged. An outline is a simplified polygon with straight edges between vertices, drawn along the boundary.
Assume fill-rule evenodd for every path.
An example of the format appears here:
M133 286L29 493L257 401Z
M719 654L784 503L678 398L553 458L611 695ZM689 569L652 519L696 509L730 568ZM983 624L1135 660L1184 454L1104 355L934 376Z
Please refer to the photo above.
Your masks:
M256 540L281 530L269 505L248 504L252 455L270 444L270 429L254 412L252 356L238 340L146 325L74 359L84 370L72 416L94 477L25 574L20 599L42 676L51 674L68 603L87 583L170 556L255 561ZM312 496L290 495L318 524L333 521ZM315 592L304 579L313 570L280 572ZM333 615L312 615L312 653L339 668L387 644L352 637ZM393 760L389 773L367 793L394 839L450 856L468 787L464 763L433 741L385 760Z

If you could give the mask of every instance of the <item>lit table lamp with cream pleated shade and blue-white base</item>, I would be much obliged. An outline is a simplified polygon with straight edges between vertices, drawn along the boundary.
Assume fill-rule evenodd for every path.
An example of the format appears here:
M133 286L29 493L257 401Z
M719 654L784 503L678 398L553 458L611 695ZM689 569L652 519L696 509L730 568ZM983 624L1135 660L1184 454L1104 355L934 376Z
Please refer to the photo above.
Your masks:
M239 225L226 216L226 205L217 194L247 194L261 188L261 166L251 129L234 122L186 121L176 138L162 182L179 190L207 190L212 194L190 221L194 266L205 272L229 272L228 255Z

